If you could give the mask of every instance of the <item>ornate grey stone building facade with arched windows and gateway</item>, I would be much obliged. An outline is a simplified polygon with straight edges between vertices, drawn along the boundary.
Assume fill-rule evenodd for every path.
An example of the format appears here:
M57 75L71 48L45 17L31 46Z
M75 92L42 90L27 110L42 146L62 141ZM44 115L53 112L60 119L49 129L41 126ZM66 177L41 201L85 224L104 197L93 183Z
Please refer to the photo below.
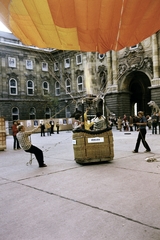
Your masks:
M160 32L141 43L106 54L38 49L0 32L0 115L7 120L68 118L103 104L116 116L150 114L150 100L160 105Z

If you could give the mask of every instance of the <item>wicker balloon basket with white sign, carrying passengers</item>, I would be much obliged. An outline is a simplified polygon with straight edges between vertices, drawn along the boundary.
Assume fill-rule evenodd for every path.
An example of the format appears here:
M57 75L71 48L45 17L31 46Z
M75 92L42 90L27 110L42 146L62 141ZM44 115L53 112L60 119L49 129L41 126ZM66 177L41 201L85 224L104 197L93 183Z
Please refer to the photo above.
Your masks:
M111 129L73 132L74 159L77 163L104 162L114 158Z

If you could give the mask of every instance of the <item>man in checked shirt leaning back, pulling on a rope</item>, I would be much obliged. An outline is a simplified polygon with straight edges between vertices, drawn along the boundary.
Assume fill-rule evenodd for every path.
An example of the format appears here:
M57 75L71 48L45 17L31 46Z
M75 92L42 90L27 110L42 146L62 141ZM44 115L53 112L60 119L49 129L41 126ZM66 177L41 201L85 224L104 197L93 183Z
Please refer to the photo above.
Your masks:
M43 152L41 149L38 147L34 146L31 144L31 141L29 140L29 136L33 133L36 132L37 129L40 128L40 126L36 127L35 129L31 131L25 131L25 127L23 125L18 126L18 133L17 133L17 138L18 141L23 148L25 152L33 153L38 161L39 167L47 167L47 165L44 163L44 157L43 157Z

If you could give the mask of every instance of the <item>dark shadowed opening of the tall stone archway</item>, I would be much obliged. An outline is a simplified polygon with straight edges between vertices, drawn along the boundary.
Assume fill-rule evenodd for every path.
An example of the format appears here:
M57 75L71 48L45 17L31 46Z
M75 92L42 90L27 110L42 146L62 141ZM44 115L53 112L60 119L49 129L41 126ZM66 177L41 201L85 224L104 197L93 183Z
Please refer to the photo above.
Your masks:
M151 86L148 76L143 72L132 72L127 76L129 80L131 115L137 111L144 111L145 115L150 115L151 109L148 102L151 100Z

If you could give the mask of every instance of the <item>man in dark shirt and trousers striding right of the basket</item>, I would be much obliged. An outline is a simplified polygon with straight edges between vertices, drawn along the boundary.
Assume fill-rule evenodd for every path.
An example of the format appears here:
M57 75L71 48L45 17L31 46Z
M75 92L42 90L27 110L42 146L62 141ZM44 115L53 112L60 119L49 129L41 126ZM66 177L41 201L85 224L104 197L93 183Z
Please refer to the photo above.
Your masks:
M139 117L139 122L137 122L137 126L139 127L139 134L138 134L136 146L135 146L133 153L138 153L138 149L139 149L141 140L142 140L143 146L146 149L145 152L150 152L151 149L145 140L145 136L146 136L146 132L147 132L146 131L147 120L142 111L138 112L138 117Z

